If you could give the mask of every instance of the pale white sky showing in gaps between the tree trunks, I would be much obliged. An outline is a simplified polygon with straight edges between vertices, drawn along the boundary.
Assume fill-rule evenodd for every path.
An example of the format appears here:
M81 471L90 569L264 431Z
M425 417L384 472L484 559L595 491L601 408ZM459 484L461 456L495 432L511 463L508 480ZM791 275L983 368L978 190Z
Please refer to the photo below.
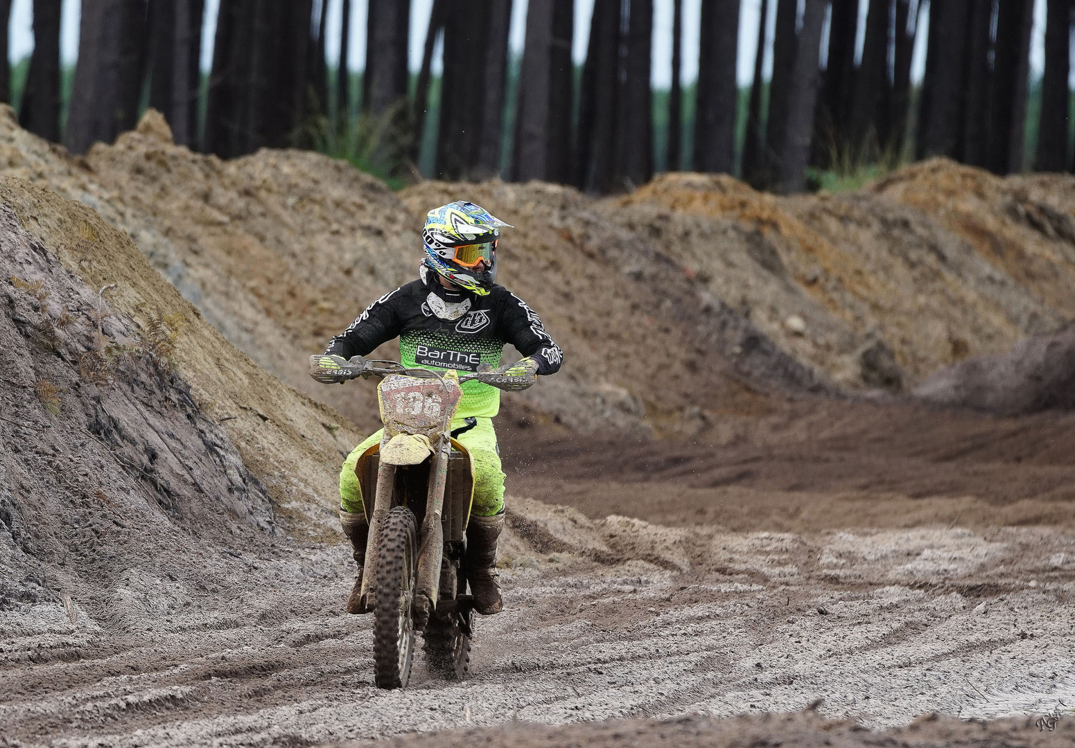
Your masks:
M335 59L340 54L340 16L343 0L327 0L329 2L327 52L329 59ZM859 14L862 20L869 0L859 0ZM761 0L742 0L739 38L737 75L740 85L748 85L754 71L754 55L758 40L758 23ZM800 4L802 0L800 0ZM412 0L411 17L411 68L417 70L421 64L422 45L426 29L429 26L429 13L432 0ZM775 0L770 1L766 34L772 40ZM203 29L202 68L207 69L213 59L213 34L216 30L216 12L219 0L205 1L205 26ZM684 39L683 68L684 84L698 77L698 45L699 15L702 0L684 0ZM63 0L61 55L64 64L75 61L78 54L78 11L81 0ZM33 49L33 33L31 0L14 0L10 27L10 57L16 61L29 55ZM512 30L508 44L513 52L522 52L522 40L526 29L527 0L515 0L512 4ZM366 64L366 9L367 0L352 0L350 31L350 68L361 70ZM590 14L593 11L593 0L575 0L575 37L572 54L577 63L586 58L586 44L589 39ZM860 37L861 37L860 21ZM915 44L915 58L912 76L917 82L921 80L926 67L926 31L928 19L923 18L918 28ZM859 47L861 49L861 38ZM666 88L672 80L672 0L654 0L654 47L653 47L653 82L658 88ZM772 55L766 55L765 74L772 70ZM823 57L823 56L822 56ZM1033 74L1041 75L1045 66L1045 0L1034 0L1034 31L1031 43L1030 64ZM1075 69L1072 71L1075 84Z

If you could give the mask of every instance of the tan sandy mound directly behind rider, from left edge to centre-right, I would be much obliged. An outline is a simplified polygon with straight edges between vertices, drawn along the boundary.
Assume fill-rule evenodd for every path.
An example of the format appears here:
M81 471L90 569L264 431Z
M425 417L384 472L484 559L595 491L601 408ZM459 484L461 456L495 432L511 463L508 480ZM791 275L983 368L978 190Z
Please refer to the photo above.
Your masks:
M574 190L430 183L401 202L317 154L262 150L229 162L192 154L170 142L154 112L78 161L0 118L0 156L8 173L99 210L232 343L366 429L376 426L372 385L320 387L305 356L415 276L425 212L460 197L519 227L501 277L572 361L570 374L515 407L516 420L689 433L721 412L763 408L744 383L818 388L807 368ZM398 355L391 344L381 353ZM640 377L640 368L653 373ZM691 397L700 390L701 403Z

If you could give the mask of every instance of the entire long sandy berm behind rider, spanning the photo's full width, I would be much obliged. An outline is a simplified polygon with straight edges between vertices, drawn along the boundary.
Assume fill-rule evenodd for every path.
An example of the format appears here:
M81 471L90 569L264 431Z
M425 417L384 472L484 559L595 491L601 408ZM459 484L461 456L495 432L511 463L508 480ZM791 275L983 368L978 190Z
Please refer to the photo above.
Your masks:
M500 277L572 362L508 405L510 420L689 435L765 412L758 391L911 390L1075 317L1067 176L933 160L840 196L776 198L698 174L603 200L499 182L396 196L317 154L192 154L154 112L77 160L0 117L0 152L6 173L130 233L232 343L363 429L372 388L318 387L304 357L414 277L422 215L453 199L517 227Z

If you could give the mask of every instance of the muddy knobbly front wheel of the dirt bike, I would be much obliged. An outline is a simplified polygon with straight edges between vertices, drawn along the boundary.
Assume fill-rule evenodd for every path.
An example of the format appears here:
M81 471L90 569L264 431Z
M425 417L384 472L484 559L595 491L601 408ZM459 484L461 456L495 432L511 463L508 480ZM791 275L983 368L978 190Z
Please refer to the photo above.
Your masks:
M373 612L373 670L377 688L404 688L414 658L414 587L417 522L405 506L385 519L377 550Z

